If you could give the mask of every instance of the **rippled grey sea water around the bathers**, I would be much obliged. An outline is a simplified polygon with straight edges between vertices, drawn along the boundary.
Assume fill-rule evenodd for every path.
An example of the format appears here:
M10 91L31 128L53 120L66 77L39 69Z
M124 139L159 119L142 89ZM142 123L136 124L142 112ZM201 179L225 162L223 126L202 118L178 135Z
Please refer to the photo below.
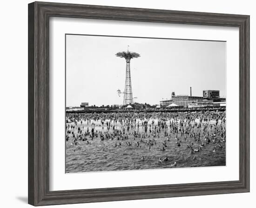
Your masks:
M139 121L139 120L138 120ZM157 125L158 120L154 120L155 125ZM105 132L107 131L106 122L101 125L101 120L95 121L91 120L91 124L94 122L95 131ZM136 121L137 122L137 121ZM191 122L192 125L195 122L199 123L199 120L196 119L194 122ZM214 124L216 121L208 121L209 124ZM142 120L140 121L142 123ZM148 130L149 125L152 123L152 120L148 120ZM204 123L204 122L202 122ZM218 125L221 122L218 123ZM68 123L69 125L75 125L74 122ZM82 132L86 132L89 127L89 131L91 131L91 124L87 124L86 121L83 121L81 124L81 120L78 120L77 125L74 129L74 134L77 134L77 127L81 127ZM113 124L113 123L112 123ZM167 122L169 125L169 121ZM225 125L223 125L225 126ZM121 124L117 122L116 129L121 129ZM117 170L143 170L143 169L162 169L162 168L182 168L182 167L205 167L205 166L222 166L226 165L226 144L222 142L222 148L218 148L218 144L210 144L202 147L199 152L190 153L190 149L188 148L189 140L193 141L194 149L198 149L198 145L194 138L190 138L187 135L187 140L184 139L184 136L181 136L181 133L171 133L171 139L167 141L167 137L164 136L164 129L161 130L160 136L155 139L156 144L148 145L143 142L140 142L140 147L136 147L136 142L140 141L141 138L135 138L133 135L129 135L130 133L138 131L137 126L133 129L129 129L128 131L128 139L124 140L111 140L104 139L103 141L100 139L100 136L94 139L90 139L87 136L86 141L78 140L77 145L72 144L73 139L71 139L72 135L67 134L69 136L68 141L66 141L66 173L74 173L74 172L91 172L91 171L117 171ZM94 132L95 132L94 131ZM112 130L109 130L110 132ZM194 132L198 132L199 129L195 128ZM213 133L213 128L208 128L209 134ZM139 132L145 132L142 126L139 126ZM169 126L167 129L169 134ZM177 146L175 136L178 135L179 140L182 140L180 146ZM217 136L219 137L219 136ZM151 138L146 138L143 140L148 140ZM167 147L165 147L165 151L162 150L163 144L162 142L167 141ZM203 133L201 128L201 141L203 139ZM89 144L87 144L89 142ZM132 145L127 145L126 143L130 142ZM115 147L115 144L117 145ZM206 142L205 142L206 143ZM149 148L150 146L150 148ZM213 150L216 150L213 152ZM141 160L141 157L144 156L144 160ZM169 160L166 162L160 163L158 160L161 157L162 159L168 156ZM195 157L195 158L194 158ZM172 166L176 162L176 166Z

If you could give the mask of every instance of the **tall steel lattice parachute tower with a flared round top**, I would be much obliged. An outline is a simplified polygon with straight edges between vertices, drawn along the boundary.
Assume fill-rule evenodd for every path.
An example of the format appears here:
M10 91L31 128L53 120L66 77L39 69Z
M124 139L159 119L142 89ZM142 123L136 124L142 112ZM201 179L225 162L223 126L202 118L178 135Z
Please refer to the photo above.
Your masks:
M129 47L129 45L128 45L128 47ZM132 83L131 83L130 61L132 58L138 58L141 56L138 53L130 52L128 47L127 47L127 52L122 51L122 52L118 52L115 54L115 56L125 58L125 60L126 60L126 76L125 76L123 105L134 104L133 103Z

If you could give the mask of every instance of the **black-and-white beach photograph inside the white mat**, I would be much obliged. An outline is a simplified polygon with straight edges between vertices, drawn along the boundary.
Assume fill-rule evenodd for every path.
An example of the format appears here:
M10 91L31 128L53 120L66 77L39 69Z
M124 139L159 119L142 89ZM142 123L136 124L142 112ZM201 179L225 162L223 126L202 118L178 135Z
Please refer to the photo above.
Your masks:
M226 42L66 34L66 173L226 165Z

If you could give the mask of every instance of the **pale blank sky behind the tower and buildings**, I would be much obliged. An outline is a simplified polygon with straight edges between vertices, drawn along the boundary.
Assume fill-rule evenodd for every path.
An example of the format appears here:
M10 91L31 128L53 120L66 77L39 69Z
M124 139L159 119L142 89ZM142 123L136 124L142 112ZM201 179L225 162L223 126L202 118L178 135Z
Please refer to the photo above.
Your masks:
M130 63L134 101L159 104L190 86L194 96L213 89L226 97L225 42L67 35L67 106L122 104L126 62L115 54L127 45L141 55Z

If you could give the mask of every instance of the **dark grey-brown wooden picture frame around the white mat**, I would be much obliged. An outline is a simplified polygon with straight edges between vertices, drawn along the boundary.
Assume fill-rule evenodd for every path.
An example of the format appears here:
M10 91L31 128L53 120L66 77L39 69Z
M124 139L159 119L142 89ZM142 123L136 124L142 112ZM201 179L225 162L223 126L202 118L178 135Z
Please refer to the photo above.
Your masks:
M49 17L239 28L239 180L49 191ZM28 203L34 206L249 192L249 16L34 2L28 5Z

